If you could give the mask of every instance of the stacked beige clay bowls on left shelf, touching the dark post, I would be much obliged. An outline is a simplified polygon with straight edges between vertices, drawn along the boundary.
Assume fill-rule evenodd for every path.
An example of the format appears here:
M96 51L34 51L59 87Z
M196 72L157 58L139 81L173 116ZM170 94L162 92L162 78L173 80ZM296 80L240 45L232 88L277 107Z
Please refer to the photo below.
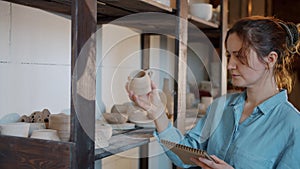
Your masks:
M64 113L51 114L49 117L49 128L57 130L61 141L70 140L70 115Z

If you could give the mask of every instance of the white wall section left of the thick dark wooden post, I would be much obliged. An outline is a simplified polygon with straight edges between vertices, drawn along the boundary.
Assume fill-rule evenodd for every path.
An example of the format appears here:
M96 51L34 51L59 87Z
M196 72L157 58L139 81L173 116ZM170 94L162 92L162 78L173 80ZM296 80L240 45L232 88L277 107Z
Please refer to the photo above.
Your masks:
M70 107L70 21L0 1L0 37L0 118Z

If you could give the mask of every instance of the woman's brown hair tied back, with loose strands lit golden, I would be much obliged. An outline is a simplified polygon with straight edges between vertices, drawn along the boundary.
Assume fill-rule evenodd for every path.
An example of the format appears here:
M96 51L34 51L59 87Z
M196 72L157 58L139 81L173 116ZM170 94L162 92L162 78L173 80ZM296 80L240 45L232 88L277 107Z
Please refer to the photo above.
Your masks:
M274 77L278 88L291 92L293 86L292 62L299 56L299 30L290 22L283 22L274 17L252 16L240 19L227 32L228 36L236 33L242 40L242 49L238 59L243 64L248 64L247 55L252 48L258 59L265 63L264 57L272 51L278 55L274 68Z

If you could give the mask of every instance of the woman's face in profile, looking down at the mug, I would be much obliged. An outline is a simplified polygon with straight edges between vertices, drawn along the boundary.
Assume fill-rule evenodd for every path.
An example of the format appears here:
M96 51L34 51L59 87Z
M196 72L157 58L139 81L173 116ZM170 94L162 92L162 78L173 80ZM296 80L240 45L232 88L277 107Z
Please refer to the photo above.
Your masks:
M227 52L229 53L228 70L231 74L231 81L234 86L238 87L254 87L264 86L267 76L267 68L262 63L256 52L249 49L246 56L246 62L242 63L238 59L239 50L242 48L242 40L236 33L229 35L227 39ZM243 56L242 56L243 57Z

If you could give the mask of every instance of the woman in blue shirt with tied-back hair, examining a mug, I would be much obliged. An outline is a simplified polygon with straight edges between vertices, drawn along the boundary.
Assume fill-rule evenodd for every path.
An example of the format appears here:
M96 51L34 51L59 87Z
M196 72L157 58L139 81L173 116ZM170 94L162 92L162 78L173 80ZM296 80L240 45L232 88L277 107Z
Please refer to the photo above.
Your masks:
M248 17L228 31L225 45L232 84L245 90L216 99L185 136L168 123L154 84L149 100L129 91L130 98L154 119L158 140L206 150L215 161L192 158L197 166L300 168L300 115L287 98L292 89L290 63L299 57L297 27L271 17ZM166 153L176 165L190 167Z

